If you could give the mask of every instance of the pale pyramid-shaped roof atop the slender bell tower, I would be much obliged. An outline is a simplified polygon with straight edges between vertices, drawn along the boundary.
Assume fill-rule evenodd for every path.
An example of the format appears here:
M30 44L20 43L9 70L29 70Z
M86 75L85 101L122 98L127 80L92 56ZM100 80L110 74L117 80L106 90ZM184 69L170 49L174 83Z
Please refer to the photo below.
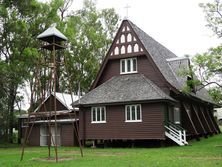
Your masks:
M52 43L53 37L55 37L55 41L67 41L67 37L56 28L56 24L52 24L47 30L39 34L37 39Z

